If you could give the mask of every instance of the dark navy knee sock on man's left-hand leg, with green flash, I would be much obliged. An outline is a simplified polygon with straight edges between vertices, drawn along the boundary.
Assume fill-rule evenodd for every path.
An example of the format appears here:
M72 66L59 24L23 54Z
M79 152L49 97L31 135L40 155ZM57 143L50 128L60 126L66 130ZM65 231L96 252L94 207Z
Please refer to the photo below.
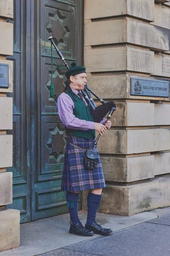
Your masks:
M71 224L75 225L79 222L79 217L78 217L79 194L67 191L65 197L67 199L67 206L70 212Z

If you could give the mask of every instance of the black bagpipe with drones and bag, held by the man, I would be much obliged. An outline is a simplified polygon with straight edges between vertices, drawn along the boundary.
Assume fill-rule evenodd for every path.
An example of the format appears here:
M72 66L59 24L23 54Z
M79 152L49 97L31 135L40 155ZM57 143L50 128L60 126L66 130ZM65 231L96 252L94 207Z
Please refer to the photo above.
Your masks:
M57 48L56 44L54 43L53 37L49 37L48 38L49 41L51 41L51 59L52 59L52 63L53 58L52 58L52 45L54 46L54 48L56 49L59 57L61 58L61 60L64 62L65 67L67 69L69 69L68 64L65 61L65 58L63 57L62 53L60 52L60 50ZM54 62L55 63L55 62ZM56 63L55 63L56 64ZM57 64L56 64L57 65ZM59 65L57 65L59 66ZM59 66L60 67L60 66ZM51 70L51 72L53 72L53 70ZM51 81L52 81L52 74L51 74ZM54 87L53 87L54 88ZM94 93L89 87L88 84L85 84L85 88L81 91L82 95L84 96L84 98L89 102L90 104L90 109L91 109L91 116L94 119L94 122L101 122L102 119L107 115L107 119L105 120L104 124L105 125L108 120L111 118L113 112L116 110L116 105L113 101L110 102L105 102L102 98L100 98L99 96L96 95L96 93ZM96 97L96 99L99 100L99 102L102 103L102 105L99 105L98 107L96 106L94 99L92 98L91 94L94 95L94 97ZM100 134L98 135L98 137L96 138L94 145L97 145L97 142L99 140Z

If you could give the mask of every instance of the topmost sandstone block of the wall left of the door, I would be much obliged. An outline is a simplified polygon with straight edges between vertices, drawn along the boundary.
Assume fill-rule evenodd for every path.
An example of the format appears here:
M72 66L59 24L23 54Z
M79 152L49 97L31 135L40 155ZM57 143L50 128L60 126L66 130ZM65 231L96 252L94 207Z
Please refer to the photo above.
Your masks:
M13 17L13 0L1 0L0 16L8 18Z

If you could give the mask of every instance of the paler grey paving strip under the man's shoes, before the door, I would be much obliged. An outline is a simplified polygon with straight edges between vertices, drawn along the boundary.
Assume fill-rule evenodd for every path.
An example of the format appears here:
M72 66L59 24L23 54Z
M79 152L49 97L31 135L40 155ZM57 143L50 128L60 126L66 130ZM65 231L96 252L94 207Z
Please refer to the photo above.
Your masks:
M142 212L130 217L98 212L96 221L103 227L108 227L113 231L117 231L156 219L157 217L158 216L152 212ZM82 221L82 224L85 224L87 212L80 211L79 218ZM91 240L97 236L100 237L100 235L97 234L94 234L94 236L76 236L68 233L70 227L69 219L69 214L64 214L21 224L20 247L2 252L0 253L0 256L34 256L47 252L53 253L54 255L56 253L56 255L62 255L62 253L65 255L76 255L79 254L79 252L71 252L65 249L54 252L54 250L71 244L76 244L81 241Z

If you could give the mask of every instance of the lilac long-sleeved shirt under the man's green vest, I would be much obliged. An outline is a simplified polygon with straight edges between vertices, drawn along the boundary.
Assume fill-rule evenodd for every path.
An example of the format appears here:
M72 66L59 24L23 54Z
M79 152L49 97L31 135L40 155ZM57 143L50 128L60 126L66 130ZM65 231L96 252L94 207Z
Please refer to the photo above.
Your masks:
M71 89L75 94L78 94L77 90ZM79 96L78 96L79 97ZM83 98L85 105L87 106L87 102ZM60 94L57 99L57 108L59 117L67 128L86 131L88 129L94 129L94 122L86 121L77 118L73 114L74 102L70 96L66 93ZM102 121L103 122L103 121Z

